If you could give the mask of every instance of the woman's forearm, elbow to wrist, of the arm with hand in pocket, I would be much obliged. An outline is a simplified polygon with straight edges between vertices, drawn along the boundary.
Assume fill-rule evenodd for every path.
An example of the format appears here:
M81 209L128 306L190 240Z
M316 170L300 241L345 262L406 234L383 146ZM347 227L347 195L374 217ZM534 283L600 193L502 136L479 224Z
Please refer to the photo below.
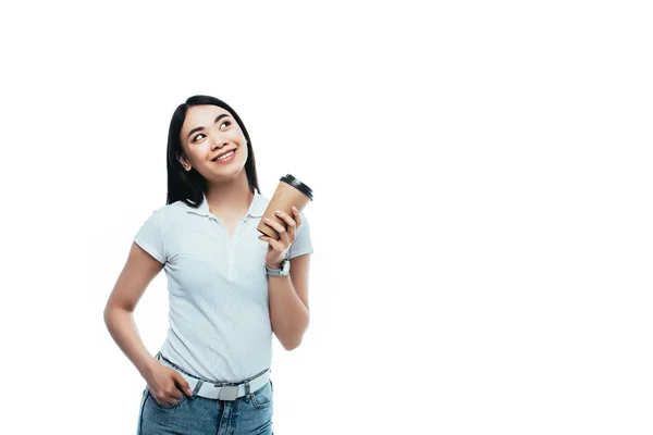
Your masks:
M158 362L140 340L133 313L123 308L108 308L104 323L118 347L145 377Z

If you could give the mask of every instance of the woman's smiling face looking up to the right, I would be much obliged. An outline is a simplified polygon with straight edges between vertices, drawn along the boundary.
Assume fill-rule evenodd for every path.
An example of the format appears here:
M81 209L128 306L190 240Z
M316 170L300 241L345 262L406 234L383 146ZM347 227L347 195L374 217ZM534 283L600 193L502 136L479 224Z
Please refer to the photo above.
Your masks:
M186 171L195 167L208 182L236 177L247 161L243 130L232 114L218 105L188 108L181 139L186 154L178 158L182 166ZM226 159L218 160L221 156Z

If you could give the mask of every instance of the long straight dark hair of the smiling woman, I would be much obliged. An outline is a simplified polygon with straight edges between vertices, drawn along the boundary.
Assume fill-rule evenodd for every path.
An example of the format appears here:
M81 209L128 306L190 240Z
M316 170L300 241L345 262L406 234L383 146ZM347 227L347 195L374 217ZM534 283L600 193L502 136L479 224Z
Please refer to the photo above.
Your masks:
M193 96L186 100L185 103L180 104L170 121L170 129L168 130L168 199L167 204L171 204L175 201L184 201L186 204L197 208L202 201L202 195L207 192L207 181L206 178L194 169L186 172L177 156L183 154L182 149L182 125L186 119L186 112L188 108L193 105L212 104L218 105L229 111L232 116L238 123L238 126L247 139L247 162L245 162L245 173L247 174L247 182L249 183L249 191L254 192L256 189L260 194L258 187L258 176L256 174L256 160L254 158L254 149L251 148L251 140L249 139L249 133L245 128L245 124L241 121L241 116L224 101L221 101L214 97L209 96Z

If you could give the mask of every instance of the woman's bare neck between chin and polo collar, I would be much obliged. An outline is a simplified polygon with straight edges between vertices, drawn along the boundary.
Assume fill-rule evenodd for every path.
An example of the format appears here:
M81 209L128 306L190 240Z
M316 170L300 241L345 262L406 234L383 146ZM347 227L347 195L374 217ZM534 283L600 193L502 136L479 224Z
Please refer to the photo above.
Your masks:
M254 194L249 191L247 174L243 170L235 178L210 184L206 197L213 214L230 214L247 212Z

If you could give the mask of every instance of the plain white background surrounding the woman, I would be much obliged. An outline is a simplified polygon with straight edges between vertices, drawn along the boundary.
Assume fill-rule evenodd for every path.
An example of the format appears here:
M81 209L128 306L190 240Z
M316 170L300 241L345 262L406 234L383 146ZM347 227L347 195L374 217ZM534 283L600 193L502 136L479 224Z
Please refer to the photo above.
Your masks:
M1 7L0 432L135 433L102 310L207 94L316 194L276 434L651 434L645 2L235 3Z

